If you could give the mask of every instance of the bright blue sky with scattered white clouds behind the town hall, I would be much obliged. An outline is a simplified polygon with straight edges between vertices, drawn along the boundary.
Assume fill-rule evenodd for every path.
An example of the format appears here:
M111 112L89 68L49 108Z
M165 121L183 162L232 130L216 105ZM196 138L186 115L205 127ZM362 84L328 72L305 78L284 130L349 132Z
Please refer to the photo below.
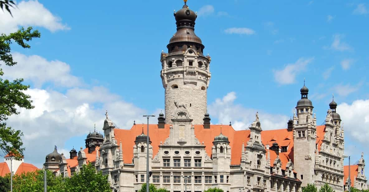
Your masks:
M284 128L306 78L318 124L334 93L352 160L369 155L369 4L365 1L194 1L195 32L211 56L212 123ZM178 1L19 1L0 32L34 26L31 49L13 46L5 77L31 85L35 109L9 124L25 136L26 161L41 167L53 146L78 149L104 112L121 128L164 108L160 53L176 31ZM30 14L32 13L32 14ZM154 123L155 120L152 120Z

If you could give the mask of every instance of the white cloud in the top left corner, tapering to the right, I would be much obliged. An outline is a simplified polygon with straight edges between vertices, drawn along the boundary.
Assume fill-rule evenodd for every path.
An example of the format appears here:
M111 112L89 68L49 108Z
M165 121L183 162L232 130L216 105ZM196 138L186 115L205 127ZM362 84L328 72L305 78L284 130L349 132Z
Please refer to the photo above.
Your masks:
M0 11L0 33L15 32L19 26L44 27L51 32L70 29L37 0L21 1L17 7L11 9L13 17L7 11Z

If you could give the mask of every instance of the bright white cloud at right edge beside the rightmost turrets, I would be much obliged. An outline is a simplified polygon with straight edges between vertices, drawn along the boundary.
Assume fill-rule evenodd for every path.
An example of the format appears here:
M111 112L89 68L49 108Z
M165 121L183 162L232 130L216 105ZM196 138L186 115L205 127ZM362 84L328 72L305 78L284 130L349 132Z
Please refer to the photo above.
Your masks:
M355 138L364 148L369 138L369 99L341 103L337 106L337 113L344 122L345 136Z

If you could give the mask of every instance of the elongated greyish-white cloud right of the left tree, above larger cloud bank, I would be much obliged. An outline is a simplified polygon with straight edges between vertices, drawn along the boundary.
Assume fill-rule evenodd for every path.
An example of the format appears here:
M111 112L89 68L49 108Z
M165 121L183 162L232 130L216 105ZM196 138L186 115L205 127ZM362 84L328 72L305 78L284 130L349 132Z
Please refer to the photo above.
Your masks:
M5 78L31 80L38 88L45 82L65 87L81 84L79 78L70 74L70 66L65 62L48 61L38 55L26 56L17 52L12 53L12 55L18 64L14 66L2 65Z

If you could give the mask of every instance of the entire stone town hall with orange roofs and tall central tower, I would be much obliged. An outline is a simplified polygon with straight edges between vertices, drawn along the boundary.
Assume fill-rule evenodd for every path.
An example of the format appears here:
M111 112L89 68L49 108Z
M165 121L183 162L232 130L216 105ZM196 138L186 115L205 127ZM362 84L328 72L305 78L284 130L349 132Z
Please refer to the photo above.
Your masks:
M246 130L210 124L211 57L203 54L204 45L194 33L196 13L184 4L174 16L177 32L168 53L160 56L165 116L159 114L158 123L149 125L149 146L146 125L120 129L106 114L103 135L88 134L86 148L73 148L68 159L55 149L46 156L45 168L67 177L92 163L108 175L113 191L134 192L145 183L149 150L150 183L171 192L213 187L227 192L301 192L309 183L318 188L328 183L344 191L348 171L344 173L344 129L337 103L329 104L325 124L318 126L304 85L287 128L263 130L257 113ZM366 189L363 158L355 166L352 186Z

